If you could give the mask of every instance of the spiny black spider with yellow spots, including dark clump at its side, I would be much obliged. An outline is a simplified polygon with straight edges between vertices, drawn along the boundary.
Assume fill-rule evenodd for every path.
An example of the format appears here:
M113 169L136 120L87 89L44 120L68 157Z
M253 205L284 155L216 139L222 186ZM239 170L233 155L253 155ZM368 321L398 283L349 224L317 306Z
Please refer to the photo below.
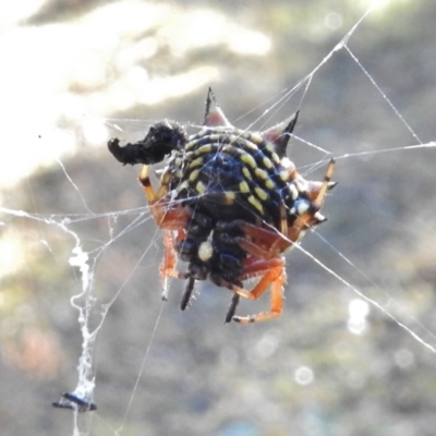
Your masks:
M301 241L307 229L324 222L319 213L335 160L324 181L305 180L286 157L299 112L264 132L234 128L209 88L203 129L187 135L174 121L161 121L143 141L109 150L126 165L143 164L140 182L157 226L165 230L160 267L162 298L167 278L186 280L181 308L190 302L197 280L209 280L233 291L226 323L254 323L281 314L286 283L283 253ZM160 185L152 186L149 166L166 160ZM175 268L187 263L185 272ZM256 277L250 291L246 279ZM235 315L240 296L257 300L270 289L270 308L250 316Z

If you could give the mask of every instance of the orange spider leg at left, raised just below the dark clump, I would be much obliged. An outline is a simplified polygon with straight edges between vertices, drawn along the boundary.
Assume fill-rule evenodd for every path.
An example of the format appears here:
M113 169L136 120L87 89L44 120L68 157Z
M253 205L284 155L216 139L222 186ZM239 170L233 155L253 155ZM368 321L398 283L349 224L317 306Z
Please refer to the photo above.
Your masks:
M161 229L180 230L187 227L191 211L178 204L171 205L171 198L165 197L168 194L167 184L162 184L157 194L155 193L148 177L147 165L144 165L141 171L140 182L144 186L153 218Z

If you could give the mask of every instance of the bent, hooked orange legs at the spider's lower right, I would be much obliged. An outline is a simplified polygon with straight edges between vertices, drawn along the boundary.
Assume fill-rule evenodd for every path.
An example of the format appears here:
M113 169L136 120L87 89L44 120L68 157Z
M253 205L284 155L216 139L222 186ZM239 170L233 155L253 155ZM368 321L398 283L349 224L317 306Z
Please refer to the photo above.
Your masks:
M250 300L257 300L264 292L271 287L271 301L270 308L267 312L261 312L255 315L249 316L233 316L237 323L247 324L256 323L259 320L267 320L279 316L283 306L283 284L286 283L284 259L274 257L269 261L249 258L244 263L243 279L249 277L264 274L259 282L253 288L252 291L246 291L243 288L233 286L232 290L242 296Z

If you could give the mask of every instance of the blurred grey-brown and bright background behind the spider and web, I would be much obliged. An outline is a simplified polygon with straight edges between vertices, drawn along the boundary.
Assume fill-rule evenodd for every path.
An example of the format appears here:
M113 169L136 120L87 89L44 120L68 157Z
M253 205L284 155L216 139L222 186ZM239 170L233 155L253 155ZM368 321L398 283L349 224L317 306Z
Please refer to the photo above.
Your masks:
M434 435L436 3L374 4L335 52L370 1L0 5L2 434ZM338 158L329 220L303 240L332 274L290 253L268 323L225 326L230 292L208 283L185 313L180 280L161 302L162 232L106 147L164 118L195 132L208 86L239 128L300 108L289 157L307 178ZM108 310L77 426L50 405L77 384L76 245L90 330Z

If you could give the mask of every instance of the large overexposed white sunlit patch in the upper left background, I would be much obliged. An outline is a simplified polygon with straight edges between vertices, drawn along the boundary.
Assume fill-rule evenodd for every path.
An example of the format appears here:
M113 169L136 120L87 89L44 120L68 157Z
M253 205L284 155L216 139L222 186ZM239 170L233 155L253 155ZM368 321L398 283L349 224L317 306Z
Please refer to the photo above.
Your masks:
M21 26L21 20L47 1L3 3L0 23L8 26L0 34L0 110L8 113L8 122L2 143L14 147L3 147L0 155L0 185L32 173L41 160L56 165L65 147L75 148L83 138L84 114L107 117L135 105L156 105L220 77L219 60L179 62L189 52L226 47L240 56L264 56L271 46L259 31L213 10L119 1L72 15L74 20ZM166 64L178 68L167 71ZM38 142L52 132L56 141ZM89 144L107 141L96 126L86 125L84 134Z

